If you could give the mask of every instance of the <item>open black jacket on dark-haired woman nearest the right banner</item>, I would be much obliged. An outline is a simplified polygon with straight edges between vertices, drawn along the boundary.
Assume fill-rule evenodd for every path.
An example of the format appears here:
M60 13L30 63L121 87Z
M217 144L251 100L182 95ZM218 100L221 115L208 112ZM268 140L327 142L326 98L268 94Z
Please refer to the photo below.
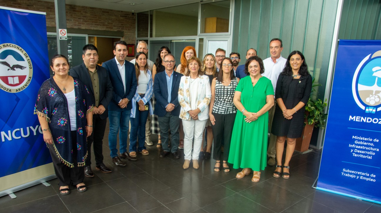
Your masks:
M279 74L277 87L275 88L275 99L282 98L283 102L287 98L290 83L294 77L292 75ZM296 85L294 106L300 101L307 104L312 88L312 77L310 74L302 75Z

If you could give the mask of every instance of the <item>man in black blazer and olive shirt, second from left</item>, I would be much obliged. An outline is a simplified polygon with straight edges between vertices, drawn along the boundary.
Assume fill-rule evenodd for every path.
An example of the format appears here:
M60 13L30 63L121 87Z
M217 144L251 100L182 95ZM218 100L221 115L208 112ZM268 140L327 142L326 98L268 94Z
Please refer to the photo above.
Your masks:
M104 173L111 170L103 163L102 139L108 117L107 107L112 98L112 85L107 70L97 65L98 49L88 44L83 47L83 63L70 69L70 75L79 78L89 88L89 93L95 103L93 110L93 133L87 138L88 156L86 159L85 176L94 177L91 170L91 144L95 155L95 168Z

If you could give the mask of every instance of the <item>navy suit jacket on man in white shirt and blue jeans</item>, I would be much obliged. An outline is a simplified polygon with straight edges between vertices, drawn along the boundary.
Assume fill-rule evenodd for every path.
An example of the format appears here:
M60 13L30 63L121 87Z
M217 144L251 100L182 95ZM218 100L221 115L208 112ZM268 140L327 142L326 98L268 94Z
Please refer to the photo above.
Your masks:
M124 91L122 77L120 76L115 57L102 64L102 66L106 68L107 73L110 76L112 87L114 88L112 91L112 100L109 104L110 111L124 111L132 109L131 101L136 93L136 86L138 86L138 83L136 82L136 71L135 66L132 63L124 60L124 64L126 91ZM118 106L118 103L123 98L127 98L130 101L128 101L127 107L122 109Z

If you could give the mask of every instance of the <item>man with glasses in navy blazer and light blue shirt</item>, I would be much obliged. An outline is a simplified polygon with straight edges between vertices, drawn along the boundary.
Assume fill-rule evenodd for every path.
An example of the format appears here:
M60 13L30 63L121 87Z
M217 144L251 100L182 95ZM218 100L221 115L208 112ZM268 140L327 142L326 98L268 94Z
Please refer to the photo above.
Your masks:
M160 126L163 150L159 157L173 154L175 159L180 158L177 149L179 146L180 104L178 92L182 74L174 72L174 57L172 54L164 56L165 72L155 75L154 94L156 105L154 114ZM169 85L169 86L168 86ZM168 147L168 133L171 130L171 149Z

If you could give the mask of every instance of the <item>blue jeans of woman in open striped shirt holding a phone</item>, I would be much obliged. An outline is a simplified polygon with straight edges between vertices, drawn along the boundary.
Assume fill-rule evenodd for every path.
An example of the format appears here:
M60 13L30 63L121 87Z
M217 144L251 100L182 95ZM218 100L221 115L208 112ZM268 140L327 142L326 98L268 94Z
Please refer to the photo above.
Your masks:
M148 103L146 104L148 106ZM149 110L139 111L139 104L136 102L135 117L131 118L130 132L130 152L136 152L136 141L139 141L138 152L146 149L144 141L146 141L146 122Z

